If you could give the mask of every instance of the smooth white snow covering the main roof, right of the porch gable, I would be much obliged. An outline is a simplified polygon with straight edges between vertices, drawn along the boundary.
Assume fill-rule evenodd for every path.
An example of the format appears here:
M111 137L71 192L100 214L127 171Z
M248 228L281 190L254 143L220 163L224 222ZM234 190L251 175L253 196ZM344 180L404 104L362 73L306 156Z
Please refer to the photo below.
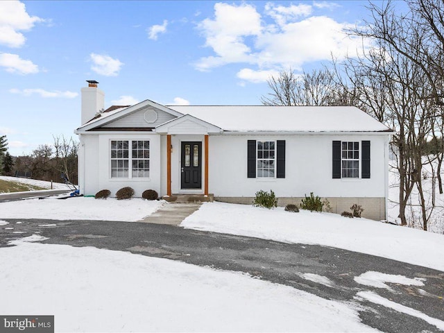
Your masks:
M223 130L382 132L390 128L353 106L167 105Z

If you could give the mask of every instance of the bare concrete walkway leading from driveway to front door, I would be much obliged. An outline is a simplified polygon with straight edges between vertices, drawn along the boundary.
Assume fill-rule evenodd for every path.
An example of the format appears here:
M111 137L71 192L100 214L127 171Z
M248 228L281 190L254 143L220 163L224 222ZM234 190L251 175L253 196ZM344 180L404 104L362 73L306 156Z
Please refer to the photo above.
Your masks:
M139 222L180 225L180 222L196 212L200 205L202 203L169 203Z

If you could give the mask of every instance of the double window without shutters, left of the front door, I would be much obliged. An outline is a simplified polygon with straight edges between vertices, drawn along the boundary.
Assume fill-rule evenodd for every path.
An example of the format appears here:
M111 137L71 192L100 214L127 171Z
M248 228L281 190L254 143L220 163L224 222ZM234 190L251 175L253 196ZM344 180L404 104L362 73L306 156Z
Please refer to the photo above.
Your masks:
M111 178L148 178L150 176L149 158L149 141L112 140ZM131 173L129 166L131 166Z

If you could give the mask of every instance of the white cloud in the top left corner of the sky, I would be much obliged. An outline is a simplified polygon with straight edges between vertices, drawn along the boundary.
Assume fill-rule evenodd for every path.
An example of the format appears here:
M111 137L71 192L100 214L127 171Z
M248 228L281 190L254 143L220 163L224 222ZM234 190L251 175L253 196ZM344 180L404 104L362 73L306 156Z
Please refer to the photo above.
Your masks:
M24 3L0 1L0 44L9 47L23 46L26 38L19 31L29 31L37 22L44 22L44 19L30 16Z

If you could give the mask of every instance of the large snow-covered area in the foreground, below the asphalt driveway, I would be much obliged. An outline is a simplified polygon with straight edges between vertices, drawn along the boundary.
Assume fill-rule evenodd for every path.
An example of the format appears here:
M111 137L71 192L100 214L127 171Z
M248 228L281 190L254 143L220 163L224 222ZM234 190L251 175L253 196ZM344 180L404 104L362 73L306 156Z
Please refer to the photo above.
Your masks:
M24 240L0 250L0 313L54 315L56 332L377 332L360 322L357 302L169 259Z

